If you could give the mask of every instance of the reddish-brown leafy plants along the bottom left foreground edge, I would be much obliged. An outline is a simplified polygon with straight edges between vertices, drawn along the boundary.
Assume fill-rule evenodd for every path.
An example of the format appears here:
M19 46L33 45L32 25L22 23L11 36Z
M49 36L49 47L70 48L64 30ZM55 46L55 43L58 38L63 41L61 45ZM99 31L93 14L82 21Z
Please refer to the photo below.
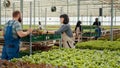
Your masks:
M0 68L60 68L60 66L53 66L51 64L31 64L28 62L8 62L6 60L0 60ZM66 68L62 66L62 68Z

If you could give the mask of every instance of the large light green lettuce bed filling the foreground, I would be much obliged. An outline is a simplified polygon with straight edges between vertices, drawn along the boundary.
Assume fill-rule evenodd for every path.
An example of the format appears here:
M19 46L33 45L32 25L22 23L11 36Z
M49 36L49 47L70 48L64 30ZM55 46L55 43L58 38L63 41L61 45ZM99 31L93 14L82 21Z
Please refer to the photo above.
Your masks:
M120 51L54 49L11 61L33 64L45 63L53 66L66 66L67 68L119 68Z

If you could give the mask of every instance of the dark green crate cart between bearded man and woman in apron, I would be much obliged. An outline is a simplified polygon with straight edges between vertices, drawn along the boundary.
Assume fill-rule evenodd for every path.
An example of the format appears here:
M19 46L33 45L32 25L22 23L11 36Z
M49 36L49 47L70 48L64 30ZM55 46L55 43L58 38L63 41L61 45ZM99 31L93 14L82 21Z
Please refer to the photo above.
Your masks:
M29 35L21 39L22 42L30 43L30 54L32 54L32 42L46 42L50 40L59 40L61 46L61 35L59 34L41 34L41 35Z

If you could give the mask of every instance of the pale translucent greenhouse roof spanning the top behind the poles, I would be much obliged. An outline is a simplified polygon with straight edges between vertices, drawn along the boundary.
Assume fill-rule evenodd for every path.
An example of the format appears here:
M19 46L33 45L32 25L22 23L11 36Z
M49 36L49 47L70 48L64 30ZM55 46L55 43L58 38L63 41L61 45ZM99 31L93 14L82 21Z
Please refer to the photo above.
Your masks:
M2 3L4 0L1 0ZM10 13L13 11L13 4L15 10L20 10L21 0L10 0L11 6L5 8L2 4L2 12ZM61 13L67 13L70 16L77 16L78 12L78 0L23 0L23 15L29 16L30 2L32 2L32 9L36 13L36 17L45 15L45 8L47 8L47 15L51 17L59 16ZM120 16L120 0L114 1L114 15ZM34 5L35 2L35 5ZM99 16L99 8L103 8L103 16L111 15L111 0L79 0L80 2L80 16ZM35 8L34 8L35 6ZM56 6L57 11L51 12L51 7ZM2 13L4 16L5 13Z

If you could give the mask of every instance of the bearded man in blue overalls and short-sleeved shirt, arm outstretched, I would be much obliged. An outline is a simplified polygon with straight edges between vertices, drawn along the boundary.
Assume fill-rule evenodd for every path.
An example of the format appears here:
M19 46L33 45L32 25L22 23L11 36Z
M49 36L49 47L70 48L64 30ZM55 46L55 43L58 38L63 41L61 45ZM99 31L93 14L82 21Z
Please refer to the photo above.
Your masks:
M2 50L2 59L11 60L18 58L20 37L25 37L32 32L29 29L27 32L22 31L20 11L13 12L13 20L9 20L4 26L4 46Z

